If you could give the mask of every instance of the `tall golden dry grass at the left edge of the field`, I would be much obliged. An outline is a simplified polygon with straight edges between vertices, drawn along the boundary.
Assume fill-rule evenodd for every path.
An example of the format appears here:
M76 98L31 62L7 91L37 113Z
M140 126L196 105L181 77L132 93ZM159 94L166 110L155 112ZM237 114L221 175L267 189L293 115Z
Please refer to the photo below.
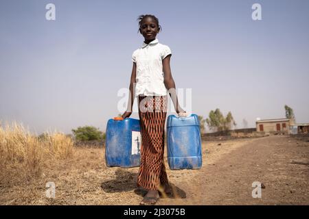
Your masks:
M73 141L62 133L39 139L19 123L0 126L0 183L30 183L41 176L48 158L66 159L73 153Z

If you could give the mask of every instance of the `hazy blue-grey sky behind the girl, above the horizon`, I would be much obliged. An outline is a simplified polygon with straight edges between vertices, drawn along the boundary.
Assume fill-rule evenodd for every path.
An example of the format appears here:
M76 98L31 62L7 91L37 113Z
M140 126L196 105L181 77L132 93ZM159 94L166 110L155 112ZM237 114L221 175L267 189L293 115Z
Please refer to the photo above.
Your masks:
M56 5L56 21L45 6ZM262 21L253 21L253 3ZM177 88L192 89L192 113L309 123L309 1L0 1L0 120L41 133L105 130L128 88L143 38L137 16L155 14L172 50ZM138 118L135 113L133 118Z

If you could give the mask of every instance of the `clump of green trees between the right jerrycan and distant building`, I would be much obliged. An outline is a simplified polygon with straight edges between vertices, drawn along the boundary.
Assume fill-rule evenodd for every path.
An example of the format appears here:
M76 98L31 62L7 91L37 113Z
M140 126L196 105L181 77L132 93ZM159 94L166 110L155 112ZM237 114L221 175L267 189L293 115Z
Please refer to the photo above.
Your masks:
M215 111L211 110L209 112L209 118L206 119L206 123L209 129L214 131L225 131L231 129L232 125L236 126L231 112L225 117L218 108Z

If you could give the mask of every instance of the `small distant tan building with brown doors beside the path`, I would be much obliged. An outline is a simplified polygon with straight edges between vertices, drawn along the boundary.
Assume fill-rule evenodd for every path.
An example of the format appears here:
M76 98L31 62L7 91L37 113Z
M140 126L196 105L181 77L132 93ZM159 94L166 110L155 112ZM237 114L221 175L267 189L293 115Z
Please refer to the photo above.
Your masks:
M289 118L258 120L256 121L256 131L290 134L291 125L293 125L293 120Z

